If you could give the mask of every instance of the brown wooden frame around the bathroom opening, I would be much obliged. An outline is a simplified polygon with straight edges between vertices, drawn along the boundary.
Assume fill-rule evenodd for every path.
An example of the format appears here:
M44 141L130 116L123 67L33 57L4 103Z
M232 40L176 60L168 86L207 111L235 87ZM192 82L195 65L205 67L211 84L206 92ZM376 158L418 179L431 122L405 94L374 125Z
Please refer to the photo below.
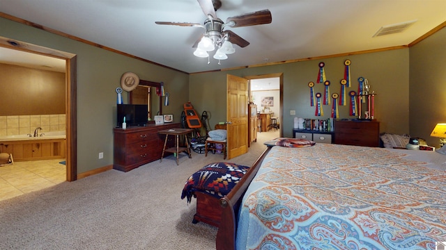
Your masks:
M77 180L77 55L0 37L0 47L66 60L66 181Z

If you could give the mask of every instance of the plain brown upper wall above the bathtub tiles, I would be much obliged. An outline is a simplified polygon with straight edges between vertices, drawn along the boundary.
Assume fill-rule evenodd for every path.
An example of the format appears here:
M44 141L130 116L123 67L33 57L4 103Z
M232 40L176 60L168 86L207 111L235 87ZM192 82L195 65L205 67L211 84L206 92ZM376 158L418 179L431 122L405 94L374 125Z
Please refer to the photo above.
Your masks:
M0 116L65 114L65 73L0 63Z

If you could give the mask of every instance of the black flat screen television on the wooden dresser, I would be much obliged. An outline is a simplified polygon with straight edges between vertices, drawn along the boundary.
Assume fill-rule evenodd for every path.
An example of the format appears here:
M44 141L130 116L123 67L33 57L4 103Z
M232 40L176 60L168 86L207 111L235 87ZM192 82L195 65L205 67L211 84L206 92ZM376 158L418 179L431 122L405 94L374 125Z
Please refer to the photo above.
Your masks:
M145 104L117 104L117 124L122 127L124 117L127 126L144 126L147 124L148 105Z

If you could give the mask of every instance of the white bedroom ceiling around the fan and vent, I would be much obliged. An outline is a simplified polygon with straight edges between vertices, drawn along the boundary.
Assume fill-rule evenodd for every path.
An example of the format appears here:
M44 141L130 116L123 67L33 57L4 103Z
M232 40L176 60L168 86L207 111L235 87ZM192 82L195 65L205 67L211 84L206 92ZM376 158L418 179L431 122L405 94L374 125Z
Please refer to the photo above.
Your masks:
M218 65L192 54L203 28L155 24L203 24L197 0L0 0L0 12L187 73L407 45L446 21L446 0L222 0L216 13L263 9L272 23L229 28L250 44ZM414 20L403 33L372 37Z

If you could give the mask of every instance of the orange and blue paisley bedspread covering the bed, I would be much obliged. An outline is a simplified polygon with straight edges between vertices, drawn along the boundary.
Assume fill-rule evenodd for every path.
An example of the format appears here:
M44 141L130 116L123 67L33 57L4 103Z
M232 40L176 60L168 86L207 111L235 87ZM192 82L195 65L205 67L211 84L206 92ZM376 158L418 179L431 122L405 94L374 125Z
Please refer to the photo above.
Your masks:
M237 249L436 249L446 172L402 152L273 147L243 197Z

